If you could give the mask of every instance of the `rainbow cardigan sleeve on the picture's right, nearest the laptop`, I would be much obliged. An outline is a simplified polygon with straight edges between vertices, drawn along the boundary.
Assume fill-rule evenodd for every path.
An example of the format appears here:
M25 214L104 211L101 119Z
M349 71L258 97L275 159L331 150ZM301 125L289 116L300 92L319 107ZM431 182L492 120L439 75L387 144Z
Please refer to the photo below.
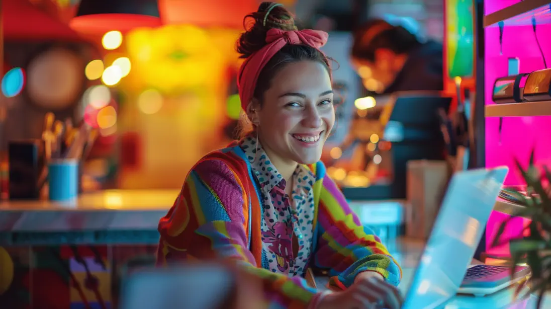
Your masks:
M314 264L329 270L329 285L344 289L354 283L356 275L362 271L376 271L388 283L398 285L402 270L379 237L361 225L341 190L328 175L317 181L322 185Z

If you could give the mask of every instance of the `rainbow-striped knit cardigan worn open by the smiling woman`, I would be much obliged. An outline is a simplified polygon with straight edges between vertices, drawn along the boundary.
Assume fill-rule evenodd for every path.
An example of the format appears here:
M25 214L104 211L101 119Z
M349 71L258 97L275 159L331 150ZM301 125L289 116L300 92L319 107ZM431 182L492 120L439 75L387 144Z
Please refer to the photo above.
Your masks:
M345 288L361 271L377 271L398 285L401 269L380 239L362 226L318 162L310 267L328 270ZM158 265L175 260L229 258L264 282L269 308L305 308L318 291L295 276L262 268L261 191L237 145L209 153L187 175L174 206L159 222Z

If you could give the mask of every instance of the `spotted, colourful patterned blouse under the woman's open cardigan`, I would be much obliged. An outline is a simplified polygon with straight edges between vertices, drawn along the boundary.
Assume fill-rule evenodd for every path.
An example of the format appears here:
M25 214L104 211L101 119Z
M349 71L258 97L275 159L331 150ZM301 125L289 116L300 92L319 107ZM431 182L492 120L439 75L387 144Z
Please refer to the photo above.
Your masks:
M293 173L292 199L285 194L287 183L256 138L249 136L240 146L251 162L252 170L262 189L264 220L262 222L262 254L268 258L274 273L304 275L312 251L312 218L316 176L299 164ZM256 158L256 159L255 159ZM298 242L296 256L293 237Z

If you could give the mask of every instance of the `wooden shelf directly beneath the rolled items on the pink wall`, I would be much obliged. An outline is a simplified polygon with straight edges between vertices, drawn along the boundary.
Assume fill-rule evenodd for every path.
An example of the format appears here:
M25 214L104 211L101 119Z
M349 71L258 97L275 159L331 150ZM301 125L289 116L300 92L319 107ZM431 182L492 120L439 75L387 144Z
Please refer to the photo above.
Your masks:
M491 104L484 107L487 117L551 116L551 101Z

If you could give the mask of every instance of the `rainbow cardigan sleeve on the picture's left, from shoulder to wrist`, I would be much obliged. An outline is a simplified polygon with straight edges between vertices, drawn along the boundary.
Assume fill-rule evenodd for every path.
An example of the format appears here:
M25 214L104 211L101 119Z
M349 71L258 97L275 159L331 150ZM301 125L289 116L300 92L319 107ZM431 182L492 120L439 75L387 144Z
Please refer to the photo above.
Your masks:
M259 268L249 250L248 196L237 168L205 160L188 175L174 206L159 222L158 265L229 259L263 283L266 308L307 308L319 294L306 280ZM248 177L246 175L245 177Z

